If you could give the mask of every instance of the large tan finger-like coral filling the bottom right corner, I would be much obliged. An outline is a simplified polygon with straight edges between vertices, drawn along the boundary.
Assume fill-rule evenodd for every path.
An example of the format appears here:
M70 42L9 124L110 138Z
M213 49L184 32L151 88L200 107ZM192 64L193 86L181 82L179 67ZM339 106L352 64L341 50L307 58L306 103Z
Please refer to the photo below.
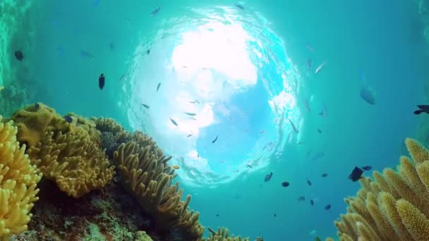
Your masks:
M429 151L410 138L406 147L412 159L362 178L357 197L345 199L348 212L334 222L340 240L429 240Z

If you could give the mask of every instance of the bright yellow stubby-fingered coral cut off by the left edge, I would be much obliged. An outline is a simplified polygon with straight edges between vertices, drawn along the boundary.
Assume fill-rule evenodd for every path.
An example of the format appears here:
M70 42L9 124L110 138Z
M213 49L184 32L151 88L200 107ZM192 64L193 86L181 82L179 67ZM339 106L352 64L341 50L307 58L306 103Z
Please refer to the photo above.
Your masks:
M27 229L42 174L30 165L25 146L19 147L18 129L1 121L0 116L0 239L8 240Z

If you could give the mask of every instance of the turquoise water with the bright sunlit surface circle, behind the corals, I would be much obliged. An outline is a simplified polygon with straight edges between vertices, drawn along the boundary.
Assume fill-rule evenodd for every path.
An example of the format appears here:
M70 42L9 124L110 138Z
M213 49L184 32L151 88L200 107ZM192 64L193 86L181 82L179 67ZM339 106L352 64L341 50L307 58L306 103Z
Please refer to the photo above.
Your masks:
M312 240L312 230L334 237L342 199L359 187L347 179L354 166L396 166L404 138L425 118L412 114L425 101L427 63L416 3L234 4L40 1L28 19L33 47L18 44L25 61L8 61L18 72L30 66L25 73L43 89L28 102L116 118L154 137L181 167L177 180L203 225L252 240ZM359 96L363 85L375 105Z

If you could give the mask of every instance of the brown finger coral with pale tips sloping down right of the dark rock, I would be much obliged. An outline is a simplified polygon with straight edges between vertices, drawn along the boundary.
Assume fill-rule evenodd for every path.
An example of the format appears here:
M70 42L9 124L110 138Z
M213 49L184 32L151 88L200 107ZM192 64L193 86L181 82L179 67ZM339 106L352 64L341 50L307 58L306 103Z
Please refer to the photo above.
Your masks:
M189 240L198 240L204 227L198 222L198 212L189 211L191 196L181 201L183 190L179 183L171 185L174 170L164 155L158 156L158 147L140 147L135 142L121 144L114 153L114 163L123 177L123 185L138 198L143 209L151 214L159 228L185 230Z

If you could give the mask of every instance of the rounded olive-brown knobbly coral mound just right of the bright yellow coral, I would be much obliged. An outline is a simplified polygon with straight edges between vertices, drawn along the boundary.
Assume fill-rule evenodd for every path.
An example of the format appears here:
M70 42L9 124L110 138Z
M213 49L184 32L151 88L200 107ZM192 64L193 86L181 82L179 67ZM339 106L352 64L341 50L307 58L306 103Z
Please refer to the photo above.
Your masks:
M73 197L104 187L114 175L104 151L82 127L64 135L46 132L28 154L46 178Z

